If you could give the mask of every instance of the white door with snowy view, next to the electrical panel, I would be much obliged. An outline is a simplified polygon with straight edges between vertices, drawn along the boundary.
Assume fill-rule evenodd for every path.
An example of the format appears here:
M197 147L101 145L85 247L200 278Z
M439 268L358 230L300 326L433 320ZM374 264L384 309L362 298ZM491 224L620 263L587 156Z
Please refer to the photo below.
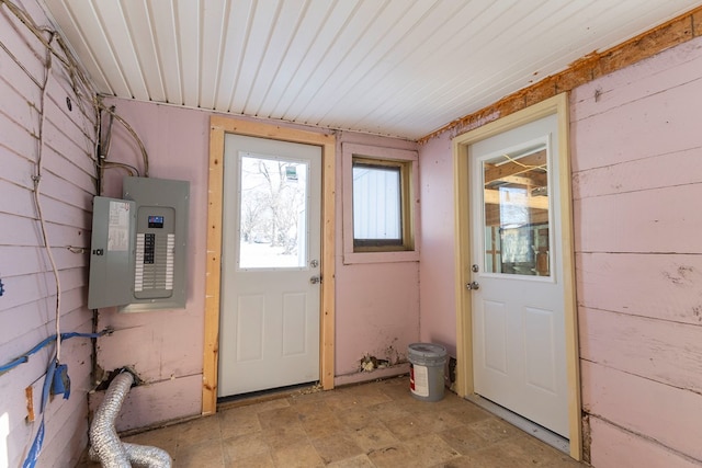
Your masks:
M226 135L218 397L319 380L321 149Z

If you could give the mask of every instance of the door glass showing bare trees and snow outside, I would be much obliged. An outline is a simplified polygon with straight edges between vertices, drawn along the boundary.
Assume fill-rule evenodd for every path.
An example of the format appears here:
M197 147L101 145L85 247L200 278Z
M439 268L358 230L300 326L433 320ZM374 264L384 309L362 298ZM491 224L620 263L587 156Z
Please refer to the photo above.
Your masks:
M307 163L240 158L239 267L307 264Z

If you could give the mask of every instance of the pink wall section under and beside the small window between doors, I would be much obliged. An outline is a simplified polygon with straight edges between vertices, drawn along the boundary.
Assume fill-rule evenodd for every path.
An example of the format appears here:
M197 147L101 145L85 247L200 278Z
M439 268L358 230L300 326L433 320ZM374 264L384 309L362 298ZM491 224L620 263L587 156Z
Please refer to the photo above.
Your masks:
M353 236L353 232L342 229L343 144L417 148L410 141L348 132L337 137L337 385L370 380L378 374L387 375L387 372L359 374L360 359L369 354L389 361L406 361L407 346L419 340L419 262L344 264L343 237ZM395 374L403 372L407 368L400 366L389 370Z

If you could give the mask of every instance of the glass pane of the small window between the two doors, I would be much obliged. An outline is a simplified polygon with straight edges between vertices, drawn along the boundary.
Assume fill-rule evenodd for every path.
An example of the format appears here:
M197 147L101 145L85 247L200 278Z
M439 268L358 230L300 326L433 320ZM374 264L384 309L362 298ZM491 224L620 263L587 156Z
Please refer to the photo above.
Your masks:
M400 168L353 165L353 238L403 241Z

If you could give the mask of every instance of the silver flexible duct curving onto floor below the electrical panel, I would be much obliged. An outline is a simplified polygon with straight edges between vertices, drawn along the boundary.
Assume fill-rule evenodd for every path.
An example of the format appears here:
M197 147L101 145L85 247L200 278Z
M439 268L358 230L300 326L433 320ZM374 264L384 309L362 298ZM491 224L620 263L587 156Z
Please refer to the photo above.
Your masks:
M120 441L114 421L133 383L132 373L123 372L110 384L90 425L90 457L104 468L132 468L132 463L150 468L171 468L171 457L166 450Z

